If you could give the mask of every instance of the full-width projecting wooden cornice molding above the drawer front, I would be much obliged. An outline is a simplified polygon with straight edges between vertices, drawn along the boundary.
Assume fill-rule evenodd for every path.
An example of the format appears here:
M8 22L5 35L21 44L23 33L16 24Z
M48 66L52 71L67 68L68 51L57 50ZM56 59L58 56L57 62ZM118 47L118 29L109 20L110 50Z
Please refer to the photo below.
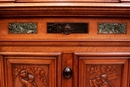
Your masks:
M129 3L3 3L1 17L130 17Z

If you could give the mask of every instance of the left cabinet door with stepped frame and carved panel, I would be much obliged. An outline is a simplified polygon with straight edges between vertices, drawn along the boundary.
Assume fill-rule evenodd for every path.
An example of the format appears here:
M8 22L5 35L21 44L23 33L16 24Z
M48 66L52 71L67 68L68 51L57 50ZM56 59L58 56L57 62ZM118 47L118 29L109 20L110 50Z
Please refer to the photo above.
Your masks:
M4 54L3 60L4 87L60 86L59 53L10 53Z

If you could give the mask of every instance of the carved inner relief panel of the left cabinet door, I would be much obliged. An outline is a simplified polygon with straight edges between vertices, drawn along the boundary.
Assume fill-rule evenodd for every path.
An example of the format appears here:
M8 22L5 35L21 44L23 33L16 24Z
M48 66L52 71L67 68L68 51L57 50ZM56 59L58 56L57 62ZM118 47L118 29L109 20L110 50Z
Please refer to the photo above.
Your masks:
M38 87L40 83L47 87L47 69L47 66L13 66L14 87L16 87L18 84L22 84L21 87Z

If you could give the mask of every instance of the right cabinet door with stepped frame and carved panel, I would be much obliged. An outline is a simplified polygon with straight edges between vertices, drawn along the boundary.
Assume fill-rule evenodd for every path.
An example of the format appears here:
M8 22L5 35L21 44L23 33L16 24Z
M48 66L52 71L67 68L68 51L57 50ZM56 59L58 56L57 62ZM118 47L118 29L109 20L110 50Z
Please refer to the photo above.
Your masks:
M79 87L128 87L128 57L78 55Z

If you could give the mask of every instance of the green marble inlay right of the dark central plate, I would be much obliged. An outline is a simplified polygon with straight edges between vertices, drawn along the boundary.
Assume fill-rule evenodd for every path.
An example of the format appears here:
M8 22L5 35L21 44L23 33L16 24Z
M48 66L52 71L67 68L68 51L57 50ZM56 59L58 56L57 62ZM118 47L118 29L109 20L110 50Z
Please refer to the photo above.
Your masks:
M126 34L126 23L98 23L99 34Z

